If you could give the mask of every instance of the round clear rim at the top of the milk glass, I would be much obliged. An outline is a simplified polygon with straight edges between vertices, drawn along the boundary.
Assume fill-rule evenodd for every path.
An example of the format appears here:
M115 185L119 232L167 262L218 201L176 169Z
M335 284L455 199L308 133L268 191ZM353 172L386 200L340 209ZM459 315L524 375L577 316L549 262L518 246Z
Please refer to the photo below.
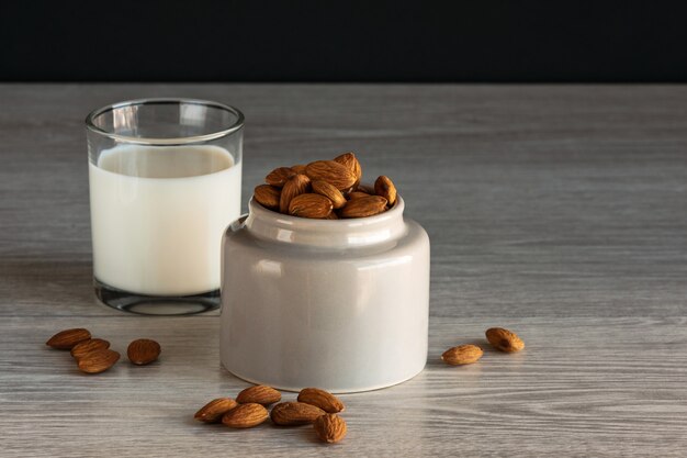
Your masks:
M215 109L219 109L226 112L229 112L236 116L236 121L229 125L227 129L223 129L221 131L211 132L203 135L193 135L193 136L183 136L183 137L137 137L131 135L122 135L115 134L114 132L109 132L104 129L101 129L95 125L94 121L97 118L126 107L136 107L136 105L151 105L151 104L195 104L195 105L204 105L212 107ZM219 102L214 102L212 100L202 100L202 99L187 99L187 98L147 98L147 99L134 99L134 100L125 100L122 102L111 103L109 105L101 107L91 111L88 116L86 116L86 129L91 132L94 132L99 135L106 136L109 138L133 143L139 145L184 145L191 143L201 143L207 142L216 138L221 138L226 135L230 135L234 132L239 131L244 126L244 113L240 112L235 107L227 105Z

